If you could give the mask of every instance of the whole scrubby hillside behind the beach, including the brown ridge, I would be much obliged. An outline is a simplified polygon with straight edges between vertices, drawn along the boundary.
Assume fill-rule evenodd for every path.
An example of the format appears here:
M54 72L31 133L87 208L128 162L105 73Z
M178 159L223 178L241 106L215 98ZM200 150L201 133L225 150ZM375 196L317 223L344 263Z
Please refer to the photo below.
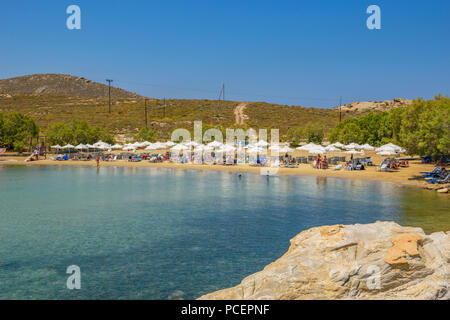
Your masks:
M112 88L112 112L108 112L108 86L70 75L40 74L0 80L0 111L18 111L32 117L45 134L57 122L85 120L108 128L119 139L145 126L145 98ZM343 117L360 116L348 107ZM367 111L367 110L366 110ZM160 138L170 138L176 128L204 125L244 128L278 128L283 138L290 127L320 123L325 130L339 121L334 109L304 108L265 102L219 100L148 99L148 126Z

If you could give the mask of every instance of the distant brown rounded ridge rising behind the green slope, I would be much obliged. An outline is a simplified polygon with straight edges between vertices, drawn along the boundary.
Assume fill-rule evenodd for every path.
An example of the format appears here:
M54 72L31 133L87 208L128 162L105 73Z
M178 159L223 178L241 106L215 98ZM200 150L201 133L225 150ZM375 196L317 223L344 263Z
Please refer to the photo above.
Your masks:
M67 74L33 74L0 80L1 93L62 94L84 98L104 98L108 86L84 77ZM115 98L139 98L136 93L111 86Z

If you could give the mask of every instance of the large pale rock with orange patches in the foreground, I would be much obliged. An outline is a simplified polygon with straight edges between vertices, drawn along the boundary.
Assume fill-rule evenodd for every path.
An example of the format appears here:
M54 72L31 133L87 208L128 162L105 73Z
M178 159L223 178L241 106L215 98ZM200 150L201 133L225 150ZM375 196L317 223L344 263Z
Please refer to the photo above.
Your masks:
M450 232L394 222L312 228L236 287L200 299L450 299Z

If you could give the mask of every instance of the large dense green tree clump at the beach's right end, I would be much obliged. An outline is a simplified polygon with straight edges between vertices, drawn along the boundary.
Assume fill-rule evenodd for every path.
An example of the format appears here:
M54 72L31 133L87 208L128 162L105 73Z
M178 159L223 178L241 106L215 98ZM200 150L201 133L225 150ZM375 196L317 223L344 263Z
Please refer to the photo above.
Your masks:
M419 98L408 106L346 119L330 130L328 139L373 146L392 142L411 155L446 156L450 154L450 99Z

